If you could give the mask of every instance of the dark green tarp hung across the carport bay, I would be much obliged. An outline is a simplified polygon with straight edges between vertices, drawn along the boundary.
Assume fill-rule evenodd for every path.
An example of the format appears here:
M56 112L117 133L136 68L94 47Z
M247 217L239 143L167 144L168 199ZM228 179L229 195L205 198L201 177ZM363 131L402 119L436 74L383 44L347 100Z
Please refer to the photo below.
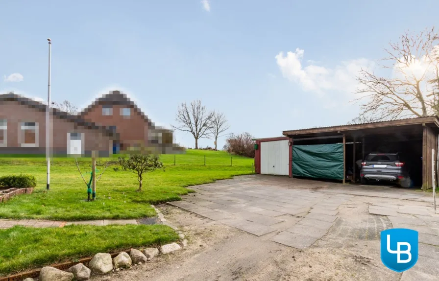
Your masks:
M343 179L343 144L293 145L293 176Z

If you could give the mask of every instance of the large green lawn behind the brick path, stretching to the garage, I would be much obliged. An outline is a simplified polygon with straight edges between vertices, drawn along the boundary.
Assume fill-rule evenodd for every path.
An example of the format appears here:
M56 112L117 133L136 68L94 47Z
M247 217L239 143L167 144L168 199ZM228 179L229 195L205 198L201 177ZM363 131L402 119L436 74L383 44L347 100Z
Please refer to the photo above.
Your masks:
M204 165L206 155L206 165ZM143 192L137 192L137 177L130 172L108 168L97 184L97 200L86 202L87 187L71 158L55 158L50 168L50 190L46 191L44 158L2 158L0 176L31 174L37 178L33 194L23 194L0 204L0 218L95 220L135 219L155 215L150 204L180 200L191 190L185 187L251 174L253 159L233 156L222 151L187 150L186 154L162 155L166 171L148 173ZM88 180L90 158L79 159L81 171Z

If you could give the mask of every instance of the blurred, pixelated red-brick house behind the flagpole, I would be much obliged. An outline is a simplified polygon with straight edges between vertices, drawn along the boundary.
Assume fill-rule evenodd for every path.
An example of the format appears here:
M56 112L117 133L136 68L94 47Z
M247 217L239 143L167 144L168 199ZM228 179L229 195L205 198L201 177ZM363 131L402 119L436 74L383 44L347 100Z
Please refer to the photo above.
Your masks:
M45 154L45 104L16 95L0 95L0 154ZM147 146L157 153L180 153L172 131L154 126L146 115L119 91L98 98L76 115L51 109L53 155L101 157Z

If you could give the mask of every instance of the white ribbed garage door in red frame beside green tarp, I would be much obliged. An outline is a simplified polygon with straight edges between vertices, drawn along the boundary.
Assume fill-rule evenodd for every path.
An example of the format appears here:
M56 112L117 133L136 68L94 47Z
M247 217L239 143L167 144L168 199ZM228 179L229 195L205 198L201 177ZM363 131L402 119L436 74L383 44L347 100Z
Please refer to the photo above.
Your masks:
M290 175L288 140L261 142L261 174Z

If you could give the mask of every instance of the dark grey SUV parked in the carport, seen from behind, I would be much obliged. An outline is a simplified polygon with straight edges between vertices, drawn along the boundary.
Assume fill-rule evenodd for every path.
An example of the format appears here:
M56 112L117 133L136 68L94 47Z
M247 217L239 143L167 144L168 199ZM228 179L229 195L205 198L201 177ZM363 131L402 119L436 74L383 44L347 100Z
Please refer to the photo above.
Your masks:
M408 169L398 153L370 153L362 162L361 183L369 181L396 182L401 187L411 187Z

